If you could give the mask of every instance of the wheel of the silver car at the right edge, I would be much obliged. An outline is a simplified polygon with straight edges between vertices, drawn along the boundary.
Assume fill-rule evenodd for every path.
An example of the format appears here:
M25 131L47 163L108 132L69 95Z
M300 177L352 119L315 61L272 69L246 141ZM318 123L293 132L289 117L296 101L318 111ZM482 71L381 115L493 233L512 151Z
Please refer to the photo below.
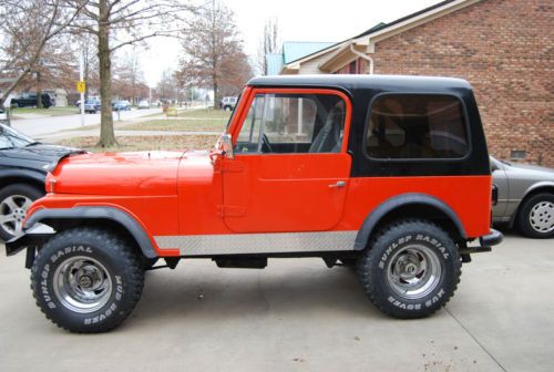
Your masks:
M517 213L517 227L530 238L554 237L554 195L542 193L524 199Z

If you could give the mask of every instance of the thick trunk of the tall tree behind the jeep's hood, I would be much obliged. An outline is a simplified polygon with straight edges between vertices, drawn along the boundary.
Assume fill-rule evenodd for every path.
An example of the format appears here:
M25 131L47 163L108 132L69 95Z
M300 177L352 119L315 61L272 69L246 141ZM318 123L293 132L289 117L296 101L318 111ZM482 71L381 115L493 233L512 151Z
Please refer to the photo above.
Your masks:
M100 141L98 146L111 147L117 144L113 131L112 115L112 70L110 50L110 24L106 0L99 1L99 62L100 62Z

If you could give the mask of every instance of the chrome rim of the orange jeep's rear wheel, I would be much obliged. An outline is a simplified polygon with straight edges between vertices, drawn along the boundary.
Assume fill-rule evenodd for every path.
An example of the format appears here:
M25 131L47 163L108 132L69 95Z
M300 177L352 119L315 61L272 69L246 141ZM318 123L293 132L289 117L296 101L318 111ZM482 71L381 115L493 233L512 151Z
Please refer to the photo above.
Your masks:
M420 299L432 292L441 279L437 254L422 245L410 245L392 256L387 268L387 282L404 299Z

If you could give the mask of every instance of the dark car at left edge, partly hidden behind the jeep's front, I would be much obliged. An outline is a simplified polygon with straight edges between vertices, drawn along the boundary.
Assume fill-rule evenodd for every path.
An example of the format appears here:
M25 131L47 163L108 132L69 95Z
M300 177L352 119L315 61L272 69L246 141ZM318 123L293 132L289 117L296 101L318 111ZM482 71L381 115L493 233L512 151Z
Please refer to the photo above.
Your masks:
M44 195L48 170L80 149L37 142L0 124L0 238L21 234L31 203Z

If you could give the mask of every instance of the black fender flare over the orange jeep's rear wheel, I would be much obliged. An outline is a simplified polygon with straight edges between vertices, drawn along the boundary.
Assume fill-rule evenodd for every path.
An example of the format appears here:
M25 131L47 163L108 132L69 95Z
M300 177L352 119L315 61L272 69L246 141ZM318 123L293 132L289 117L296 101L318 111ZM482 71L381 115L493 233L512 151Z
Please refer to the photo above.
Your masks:
M399 207L404 207L407 205L425 205L442 211L454 224L460 235L464 239L466 238L462 221L460 220L455 211L452 210L452 208L449 207L444 202L428 194L409 193L398 195L384 200L366 217L363 224L358 230L358 235L356 236L353 249L363 250L368 244L371 232L373 231L373 228L381 220L381 218L383 218L390 211Z

